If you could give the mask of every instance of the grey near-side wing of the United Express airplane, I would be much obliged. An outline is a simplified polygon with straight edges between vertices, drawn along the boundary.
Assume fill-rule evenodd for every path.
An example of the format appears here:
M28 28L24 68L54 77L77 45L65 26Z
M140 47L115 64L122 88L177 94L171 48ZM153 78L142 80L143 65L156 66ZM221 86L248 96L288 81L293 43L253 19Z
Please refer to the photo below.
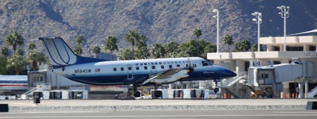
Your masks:
M160 83L167 84L189 77L190 70L186 67L177 67L168 69L159 73L153 73L149 75L149 78L145 80L141 85L148 83Z

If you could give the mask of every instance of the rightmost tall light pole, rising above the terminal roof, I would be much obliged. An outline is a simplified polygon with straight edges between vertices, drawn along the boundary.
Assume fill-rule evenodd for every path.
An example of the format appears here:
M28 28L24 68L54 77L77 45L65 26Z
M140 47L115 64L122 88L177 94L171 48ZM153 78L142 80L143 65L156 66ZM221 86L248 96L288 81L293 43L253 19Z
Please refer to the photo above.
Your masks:
M278 6L276 7L278 8L279 10L281 10L281 12L279 12L278 14L281 15L282 18L284 18L284 50L283 51L286 51L286 18L289 17L289 9L290 7L289 6Z

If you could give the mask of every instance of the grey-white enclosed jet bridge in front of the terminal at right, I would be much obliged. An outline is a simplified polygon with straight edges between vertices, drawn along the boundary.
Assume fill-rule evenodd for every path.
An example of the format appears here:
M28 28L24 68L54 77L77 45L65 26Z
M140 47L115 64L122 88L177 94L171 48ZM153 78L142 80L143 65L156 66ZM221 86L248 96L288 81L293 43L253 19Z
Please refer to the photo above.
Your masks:
M314 66L314 62L302 62L299 58L293 58L291 64L277 65L274 65L273 61L250 61L248 85L283 91L283 82L298 82L299 98L302 98L303 83L308 85L309 80L315 77ZM308 92L308 89L305 92ZM276 91L271 93L279 95Z

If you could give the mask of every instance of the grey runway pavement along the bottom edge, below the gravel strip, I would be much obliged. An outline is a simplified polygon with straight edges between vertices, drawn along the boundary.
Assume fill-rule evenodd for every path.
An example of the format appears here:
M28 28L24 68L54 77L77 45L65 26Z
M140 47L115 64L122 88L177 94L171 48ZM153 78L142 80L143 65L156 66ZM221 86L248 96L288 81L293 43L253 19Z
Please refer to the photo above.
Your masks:
M315 110L11 111L0 119L316 119Z

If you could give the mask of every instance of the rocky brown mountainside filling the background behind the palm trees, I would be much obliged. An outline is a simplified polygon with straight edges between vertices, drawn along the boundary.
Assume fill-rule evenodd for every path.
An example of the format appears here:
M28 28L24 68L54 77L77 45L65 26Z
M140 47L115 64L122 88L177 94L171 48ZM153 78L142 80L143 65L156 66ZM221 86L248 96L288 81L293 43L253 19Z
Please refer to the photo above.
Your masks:
M200 39L215 43L214 8L220 13L220 40L230 34L235 42L253 43L257 24L251 13L263 14L261 36L282 36L277 6L290 6L287 34L294 34L317 29L316 4L317 0L1 0L0 44L11 29L26 40L60 36L70 47L76 46L76 36L83 35L84 56L91 56L90 47L104 43L109 35L116 36L124 48L129 46L124 40L129 30L144 34L152 44L195 39L195 28L203 31Z

